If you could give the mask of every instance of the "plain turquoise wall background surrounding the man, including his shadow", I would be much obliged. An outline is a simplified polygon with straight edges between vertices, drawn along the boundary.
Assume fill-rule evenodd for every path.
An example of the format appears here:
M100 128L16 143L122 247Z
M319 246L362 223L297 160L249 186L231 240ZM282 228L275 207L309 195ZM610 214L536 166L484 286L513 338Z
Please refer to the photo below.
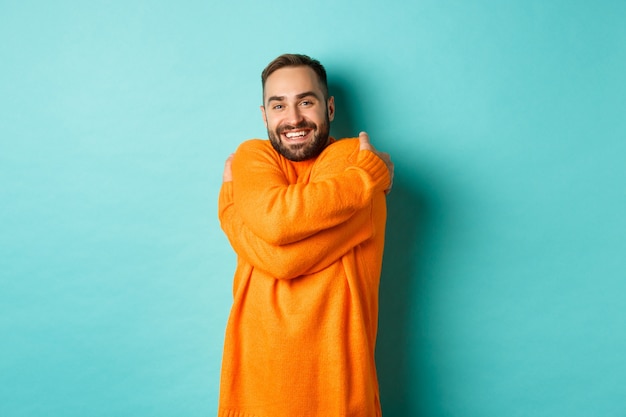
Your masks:
M393 155L385 416L626 415L626 2L0 1L0 415L208 416L224 159L320 59Z

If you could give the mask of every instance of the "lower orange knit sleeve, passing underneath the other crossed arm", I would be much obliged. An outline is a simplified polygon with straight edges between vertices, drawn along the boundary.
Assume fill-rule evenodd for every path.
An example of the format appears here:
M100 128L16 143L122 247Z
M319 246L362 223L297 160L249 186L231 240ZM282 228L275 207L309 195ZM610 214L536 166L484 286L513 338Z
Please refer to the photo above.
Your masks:
M238 256L255 268L278 279L291 279L318 272L372 237L371 206L348 221L310 236L304 242L275 245L247 227L233 203L233 183L222 185L219 195L222 229Z

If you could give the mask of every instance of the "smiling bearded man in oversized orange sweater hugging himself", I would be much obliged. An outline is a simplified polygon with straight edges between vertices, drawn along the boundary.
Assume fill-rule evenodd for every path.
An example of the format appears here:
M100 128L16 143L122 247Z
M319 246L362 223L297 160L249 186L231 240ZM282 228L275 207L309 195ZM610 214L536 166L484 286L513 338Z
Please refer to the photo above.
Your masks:
M367 134L335 141L326 71L282 55L262 73L268 140L226 162L237 253L220 417L380 416L378 283L393 178Z

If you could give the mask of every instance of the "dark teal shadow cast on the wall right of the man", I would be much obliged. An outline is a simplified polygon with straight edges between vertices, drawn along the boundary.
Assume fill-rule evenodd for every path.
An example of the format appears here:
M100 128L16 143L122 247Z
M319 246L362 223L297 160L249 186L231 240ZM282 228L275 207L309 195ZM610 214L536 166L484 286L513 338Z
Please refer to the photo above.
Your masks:
M329 82L335 96L336 116L331 133L336 138L355 137L366 128L347 82ZM361 92L362 93L362 92ZM390 141L390 138L385 138ZM381 140L372 138L377 146ZM380 147L386 151L384 145ZM402 177L402 166L413 166L403 155L392 154L396 176L387 198L387 232L383 271L380 284L380 315L376 363L380 383L381 404L386 417L418 416L421 378L414 374L416 356L411 338L419 334L411 321L412 300L416 299L421 278L420 266L426 242L429 204L424 190ZM413 345L415 346L415 345Z

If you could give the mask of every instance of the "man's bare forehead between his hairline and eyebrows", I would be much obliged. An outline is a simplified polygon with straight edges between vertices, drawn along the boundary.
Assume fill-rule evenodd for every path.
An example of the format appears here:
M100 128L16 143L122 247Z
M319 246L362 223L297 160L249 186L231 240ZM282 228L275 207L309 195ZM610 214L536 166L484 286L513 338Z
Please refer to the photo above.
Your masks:
M295 97L304 92L322 96L317 74L307 66L284 67L274 71L265 81L263 100L267 97Z

